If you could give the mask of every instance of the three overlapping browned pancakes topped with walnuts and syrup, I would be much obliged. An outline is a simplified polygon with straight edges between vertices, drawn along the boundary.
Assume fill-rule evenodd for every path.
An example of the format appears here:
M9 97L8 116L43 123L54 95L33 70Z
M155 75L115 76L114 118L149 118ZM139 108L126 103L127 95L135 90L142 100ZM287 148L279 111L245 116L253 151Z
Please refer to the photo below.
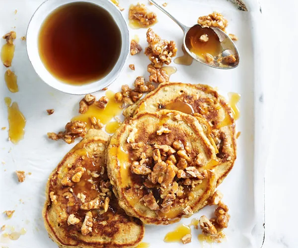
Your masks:
M207 85L162 83L112 137L90 129L47 184L43 217L60 247L136 247L208 203L236 159L231 108Z

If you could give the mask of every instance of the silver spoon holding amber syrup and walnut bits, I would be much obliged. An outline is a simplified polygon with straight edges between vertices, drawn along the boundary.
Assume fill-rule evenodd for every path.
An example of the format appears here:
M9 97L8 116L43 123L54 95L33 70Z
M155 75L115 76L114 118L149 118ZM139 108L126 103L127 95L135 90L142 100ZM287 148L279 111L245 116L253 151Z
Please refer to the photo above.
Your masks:
M149 1L179 25L184 33L183 48L194 60L219 69L232 69L238 66L240 61L238 50L223 30L216 27L202 27L200 24L187 27L156 0Z

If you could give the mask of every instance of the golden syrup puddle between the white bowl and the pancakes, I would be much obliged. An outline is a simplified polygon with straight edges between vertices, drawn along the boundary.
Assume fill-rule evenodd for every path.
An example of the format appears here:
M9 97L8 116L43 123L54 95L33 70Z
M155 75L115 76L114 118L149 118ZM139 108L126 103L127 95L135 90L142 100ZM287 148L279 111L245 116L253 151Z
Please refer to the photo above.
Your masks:
M95 117L96 119L100 120L102 124L107 124L112 120L112 118L119 115L122 111L122 104L117 103L114 96L114 92L107 90L106 97L109 99L109 101L104 109L100 109L93 104L89 106L89 109L85 114L75 116L72 121L85 122L87 124L87 128L90 128L90 118Z

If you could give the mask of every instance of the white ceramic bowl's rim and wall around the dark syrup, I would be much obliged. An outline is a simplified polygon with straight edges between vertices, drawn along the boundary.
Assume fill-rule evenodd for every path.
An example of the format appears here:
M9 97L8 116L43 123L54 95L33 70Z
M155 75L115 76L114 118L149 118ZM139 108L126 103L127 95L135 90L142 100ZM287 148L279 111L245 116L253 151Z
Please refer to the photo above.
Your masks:
M114 65L113 69L100 80L90 82L82 85L67 84L63 81L54 77L44 66L38 53L38 34L43 21L47 16L54 11L56 8L71 2L90 2L96 4L104 9L106 9L114 18L116 24L118 25L121 38L122 47L118 61ZM74 95L83 95L101 90L108 85L110 85L120 74L123 69L127 57L129 55L129 32L127 23L122 16L118 7L109 0L46 0L44 1L33 14L28 28L26 36L26 47L29 60L34 67L36 73L40 78L53 88L63 91L65 93L70 93Z

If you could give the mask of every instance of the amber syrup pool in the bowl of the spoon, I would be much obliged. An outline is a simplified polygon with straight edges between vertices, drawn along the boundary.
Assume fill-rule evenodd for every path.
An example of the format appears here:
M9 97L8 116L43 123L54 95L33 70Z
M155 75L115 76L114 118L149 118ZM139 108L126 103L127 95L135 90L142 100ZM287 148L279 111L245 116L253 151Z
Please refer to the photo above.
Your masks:
M207 35L208 41L201 41L202 35ZM200 25L193 26L187 32L185 45L191 53L203 60L205 60L204 54L216 57L222 52L222 45L217 34L211 28L202 28Z

